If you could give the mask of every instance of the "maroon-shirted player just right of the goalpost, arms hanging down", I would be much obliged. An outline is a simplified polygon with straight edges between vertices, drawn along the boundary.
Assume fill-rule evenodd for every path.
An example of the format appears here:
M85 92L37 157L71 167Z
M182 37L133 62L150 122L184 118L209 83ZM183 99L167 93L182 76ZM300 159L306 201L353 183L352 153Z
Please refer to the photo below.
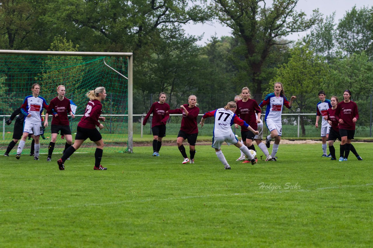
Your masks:
M150 114L153 114L151 120L151 131L153 132L153 156L159 156L159 150L162 146L162 139L166 136L166 122L170 115L167 111L170 110L170 105L166 103L166 93L159 94L159 102L151 105L149 112L145 116L142 125L146 125Z

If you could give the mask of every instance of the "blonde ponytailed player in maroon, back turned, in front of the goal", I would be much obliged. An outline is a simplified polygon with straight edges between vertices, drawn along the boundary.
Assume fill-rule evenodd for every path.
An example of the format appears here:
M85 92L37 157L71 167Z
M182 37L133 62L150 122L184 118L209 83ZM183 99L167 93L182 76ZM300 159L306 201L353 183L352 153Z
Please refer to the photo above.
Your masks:
M104 148L104 141L101 133L96 129L103 129L104 126L98 122L98 120L105 121L105 117L100 116L102 112L101 101L106 98L106 90L104 87L97 87L95 90L90 90L85 94L90 100L87 103L84 116L80 119L76 128L75 142L72 146L66 149L62 158L57 160L57 164L60 170L65 170L65 161L69 158L87 139L95 142L97 145L94 157L95 165L93 170L107 170L107 168L101 166L101 158Z

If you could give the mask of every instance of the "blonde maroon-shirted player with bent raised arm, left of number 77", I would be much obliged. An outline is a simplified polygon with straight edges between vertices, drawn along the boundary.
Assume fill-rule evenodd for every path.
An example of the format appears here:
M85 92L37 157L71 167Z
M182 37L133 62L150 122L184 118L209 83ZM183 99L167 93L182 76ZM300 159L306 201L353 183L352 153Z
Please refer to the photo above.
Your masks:
M181 128L176 140L179 151L184 157L182 164L186 164L187 162L194 164L195 142L197 141L198 136L197 116L200 113L200 109L197 107L197 105L197 97L191 95L188 97L188 104L181 105L180 109L172 109L168 111L170 114L183 115L181 119ZM185 139L188 139L189 143L190 160L186 155L185 147L183 145L183 141L185 141Z

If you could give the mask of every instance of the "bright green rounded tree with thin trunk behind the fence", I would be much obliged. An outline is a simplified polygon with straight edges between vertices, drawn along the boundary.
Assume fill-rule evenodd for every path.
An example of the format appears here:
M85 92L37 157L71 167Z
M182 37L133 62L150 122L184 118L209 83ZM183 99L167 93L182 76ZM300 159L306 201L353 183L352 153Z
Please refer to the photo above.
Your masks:
M297 45L291 49L291 58L287 64L280 65L276 77L271 80L281 82L284 85L285 93L289 92L297 96L293 103L293 111L297 108L299 113L314 112L315 99L310 96L317 96L320 85L323 85L328 75L328 65L320 55L316 55L309 49L308 44ZM300 116L302 135L305 135L305 119Z

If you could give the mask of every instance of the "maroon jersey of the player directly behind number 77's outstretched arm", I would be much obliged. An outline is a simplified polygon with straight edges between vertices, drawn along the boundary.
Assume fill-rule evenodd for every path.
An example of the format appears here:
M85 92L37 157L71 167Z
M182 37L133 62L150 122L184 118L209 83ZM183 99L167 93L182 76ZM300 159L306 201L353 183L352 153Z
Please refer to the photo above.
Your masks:
M258 123L255 113L261 113L261 109L254 99L248 99L246 102L239 100L236 102L237 109L235 114L251 126L254 130L258 130ZM241 131L249 131L245 126L241 126Z

